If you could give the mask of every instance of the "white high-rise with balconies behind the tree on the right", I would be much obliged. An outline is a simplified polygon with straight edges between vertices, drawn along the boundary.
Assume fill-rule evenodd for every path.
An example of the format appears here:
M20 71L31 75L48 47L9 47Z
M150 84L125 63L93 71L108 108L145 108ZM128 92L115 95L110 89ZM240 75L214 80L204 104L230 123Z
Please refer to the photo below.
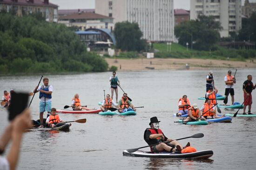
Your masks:
M201 14L212 15L221 23L221 37L228 37L242 28L241 6L241 0L190 0L190 20Z

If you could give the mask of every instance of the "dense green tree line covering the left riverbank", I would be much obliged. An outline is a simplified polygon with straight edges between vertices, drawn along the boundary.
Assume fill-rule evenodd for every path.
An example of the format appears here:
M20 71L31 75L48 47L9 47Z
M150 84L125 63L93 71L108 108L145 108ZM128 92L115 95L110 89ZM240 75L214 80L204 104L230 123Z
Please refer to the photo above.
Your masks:
M0 13L0 73L104 72L108 64L87 52L63 24Z

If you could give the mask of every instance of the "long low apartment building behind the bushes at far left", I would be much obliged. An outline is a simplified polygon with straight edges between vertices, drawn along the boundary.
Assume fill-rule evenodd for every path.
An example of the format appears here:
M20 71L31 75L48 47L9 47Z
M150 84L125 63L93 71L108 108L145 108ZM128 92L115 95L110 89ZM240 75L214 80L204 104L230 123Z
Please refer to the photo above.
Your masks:
M18 16L41 13L49 22L58 22L58 6L49 0L0 0L0 11L12 12Z

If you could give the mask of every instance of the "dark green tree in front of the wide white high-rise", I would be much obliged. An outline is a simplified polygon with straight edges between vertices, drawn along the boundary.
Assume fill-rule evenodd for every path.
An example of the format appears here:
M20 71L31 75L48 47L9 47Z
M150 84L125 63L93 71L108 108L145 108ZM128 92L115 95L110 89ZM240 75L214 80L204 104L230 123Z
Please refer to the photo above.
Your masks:
M122 51L141 51L145 49L145 40L141 39L141 32L137 23L118 22L115 24L114 35L116 48Z

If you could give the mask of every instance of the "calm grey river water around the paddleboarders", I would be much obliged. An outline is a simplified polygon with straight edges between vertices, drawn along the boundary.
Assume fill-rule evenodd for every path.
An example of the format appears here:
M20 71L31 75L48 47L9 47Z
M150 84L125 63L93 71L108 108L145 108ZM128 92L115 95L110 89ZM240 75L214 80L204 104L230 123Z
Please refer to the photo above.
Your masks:
M216 86L224 94L224 76L227 70L214 71ZM233 74L235 71L233 70ZM98 114L60 114L65 121L87 118L85 124L73 123L70 132L33 130L25 133L20 150L18 170L98 170L98 169L172 169L207 170L233 169L254 170L256 167L256 118L233 118L232 123L212 123L206 126L191 126L174 123L177 102L187 94L190 103L202 106L198 97L205 94L207 71L144 71L117 72L122 89L128 93L137 109L136 116L100 116ZM256 70L239 70L236 73L235 101L243 103L243 81L247 75L256 77ZM79 93L81 104L97 108L104 98L103 90L110 93L108 78L111 72L77 75L47 75L53 85L52 107L63 109L70 105L75 93ZM14 88L32 92L38 84L37 76L0 77L0 92ZM256 83L256 80L253 79ZM119 96L122 95L119 89ZM256 93L253 92L256 100ZM229 104L231 103L229 97ZM222 101L218 101L222 103ZM32 118L39 118L39 98L35 95L31 105ZM222 113L235 113L225 111ZM240 110L239 113L243 111ZM252 105L256 113L256 103ZM0 133L7 126L7 112L0 108ZM44 115L46 116L46 114ZM204 133L202 138L190 141L197 150L213 150L210 159L171 160L167 158L125 157L122 151L147 145L143 140L149 119L157 116L160 128L167 137L182 138ZM149 150L144 148L143 150ZM8 152L8 149L7 149Z

